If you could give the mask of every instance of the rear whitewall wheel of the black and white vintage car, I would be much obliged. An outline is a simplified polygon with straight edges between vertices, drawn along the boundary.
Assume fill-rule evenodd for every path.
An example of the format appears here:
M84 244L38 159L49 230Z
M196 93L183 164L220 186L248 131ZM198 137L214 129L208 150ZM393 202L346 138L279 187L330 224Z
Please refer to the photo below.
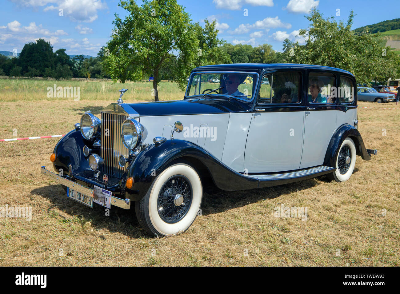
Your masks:
M328 179L336 182L346 182L353 173L356 165L356 145L350 138L346 138L340 146L336 157L336 170L328 174Z

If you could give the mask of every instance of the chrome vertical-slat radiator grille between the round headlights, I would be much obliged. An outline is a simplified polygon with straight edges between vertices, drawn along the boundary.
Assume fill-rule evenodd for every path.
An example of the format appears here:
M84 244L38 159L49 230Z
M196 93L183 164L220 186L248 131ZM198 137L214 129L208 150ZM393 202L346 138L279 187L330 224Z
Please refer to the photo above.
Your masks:
M101 113L101 147L100 156L104 159L102 172L121 177L125 168L120 167L118 159L120 154L128 158L128 148L122 143L121 127L128 116L112 113ZM108 136L106 132L108 130Z

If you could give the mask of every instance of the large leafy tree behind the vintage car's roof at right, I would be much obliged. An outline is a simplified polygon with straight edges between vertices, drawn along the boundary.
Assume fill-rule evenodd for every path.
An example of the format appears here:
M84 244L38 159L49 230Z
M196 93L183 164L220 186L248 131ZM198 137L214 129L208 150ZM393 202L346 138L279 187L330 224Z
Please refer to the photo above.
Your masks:
M284 41L284 56L287 62L318 64L348 70L359 82L370 82L383 72L393 55L384 56L378 39L368 30L354 32L351 29L354 12L346 23L336 22L334 16L324 18L318 10L306 16L310 21L307 29L300 30L299 35L306 38L305 45L298 42Z

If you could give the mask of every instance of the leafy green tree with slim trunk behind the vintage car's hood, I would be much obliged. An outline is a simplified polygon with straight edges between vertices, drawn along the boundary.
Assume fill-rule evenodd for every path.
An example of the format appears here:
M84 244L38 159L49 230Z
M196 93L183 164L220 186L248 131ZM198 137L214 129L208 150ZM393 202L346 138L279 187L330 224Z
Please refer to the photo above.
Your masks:
M103 67L113 82L140 80L153 76L154 100L161 69L176 57L171 76L183 89L196 60L198 40L189 14L176 0L144 0L138 6L134 0L118 4L128 12L122 20L115 15L114 31L106 44L110 55Z

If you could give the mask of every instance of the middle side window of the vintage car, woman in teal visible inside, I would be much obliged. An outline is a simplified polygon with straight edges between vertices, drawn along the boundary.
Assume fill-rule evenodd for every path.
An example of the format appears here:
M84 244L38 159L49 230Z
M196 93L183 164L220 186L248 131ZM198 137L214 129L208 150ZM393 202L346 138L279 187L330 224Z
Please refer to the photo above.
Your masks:
M310 72L308 75L308 102L334 103L336 102L335 76Z

